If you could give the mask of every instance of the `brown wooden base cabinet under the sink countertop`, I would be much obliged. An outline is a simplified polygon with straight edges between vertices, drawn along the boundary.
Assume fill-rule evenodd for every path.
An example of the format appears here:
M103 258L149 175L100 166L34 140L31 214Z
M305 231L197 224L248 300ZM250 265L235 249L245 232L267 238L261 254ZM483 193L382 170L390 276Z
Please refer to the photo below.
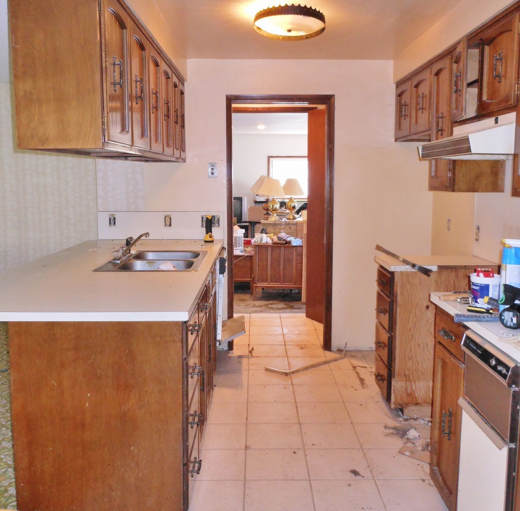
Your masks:
M215 271L181 321L10 322L19 509L188 508L213 387ZM30 370L28 370L30 368Z

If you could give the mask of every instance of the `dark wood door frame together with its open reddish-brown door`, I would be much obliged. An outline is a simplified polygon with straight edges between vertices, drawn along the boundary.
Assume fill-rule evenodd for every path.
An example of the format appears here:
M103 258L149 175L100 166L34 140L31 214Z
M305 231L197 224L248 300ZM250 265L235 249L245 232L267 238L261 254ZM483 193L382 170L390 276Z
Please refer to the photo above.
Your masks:
M228 95L226 96L226 139L227 139L227 232L228 232L228 317L233 315L233 193L232 193L232 113L240 111L262 112L309 112L313 110L309 106L318 105L323 115L322 120L311 123L309 115L309 133L311 124L313 127L312 144L313 151L321 152L318 159L320 174L316 174L309 158L309 179L314 174L314 186L318 197L313 201L315 211L319 215L313 215L312 231L314 248L312 251L313 264L309 269L312 273L315 287L308 293L308 299L313 302L311 310L322 318L323 323L323 348L331 349L331 323L332 323L332 219L333 219L333 156L334 156L334 96L333 95ZM310 137L311 135L309 135ZM309 142L311 139L309 138ZM317 149L316 149L317 148ZM309 144L309 150L310 144ZM320 160L320 161L321 161ZM310 224L309 222L309 231ZM309 266L307 267L309 268ZM318 279L316 277L319 276ZM316 285L317 283L317 285ZM308 313L307 313L308 316ZM313 318L315 319L315 318Z

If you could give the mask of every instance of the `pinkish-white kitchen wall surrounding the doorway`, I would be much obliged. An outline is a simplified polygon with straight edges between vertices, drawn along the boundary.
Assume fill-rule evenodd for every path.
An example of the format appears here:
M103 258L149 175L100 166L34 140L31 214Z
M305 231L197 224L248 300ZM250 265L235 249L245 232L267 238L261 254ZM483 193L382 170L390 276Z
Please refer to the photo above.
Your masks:
M415 145L394 142L392 62L188 60L188 72L186 163L106 164L104 211L225 211L226 95L334 94L333 347L373 349L374 246L429 254L431 243L427 172L417 168ZM209 162L216 179L207 177Z

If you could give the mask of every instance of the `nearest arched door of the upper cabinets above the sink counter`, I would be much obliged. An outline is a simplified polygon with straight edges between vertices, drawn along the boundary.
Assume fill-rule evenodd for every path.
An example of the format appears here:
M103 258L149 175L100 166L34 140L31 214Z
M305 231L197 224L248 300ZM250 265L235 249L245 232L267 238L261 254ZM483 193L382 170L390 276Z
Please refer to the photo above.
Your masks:
M119 2L107 0L105 10L105 102L107 141L132 145L128 34L130 20Z

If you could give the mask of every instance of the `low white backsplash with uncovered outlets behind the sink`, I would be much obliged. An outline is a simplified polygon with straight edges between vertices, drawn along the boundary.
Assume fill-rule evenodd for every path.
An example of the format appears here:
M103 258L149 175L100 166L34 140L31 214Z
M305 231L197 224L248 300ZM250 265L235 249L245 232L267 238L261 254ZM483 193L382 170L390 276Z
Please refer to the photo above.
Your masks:
M109 225L110 215L115 215L115 226ZM164 215L172 216L171 227L165 227ZM213 227L213 237L224 239L223 211L99 211L98 236L100 240L124 240L149 232L154 240L202 240L206 233L201 227L204 215L220 216L220 227Z

